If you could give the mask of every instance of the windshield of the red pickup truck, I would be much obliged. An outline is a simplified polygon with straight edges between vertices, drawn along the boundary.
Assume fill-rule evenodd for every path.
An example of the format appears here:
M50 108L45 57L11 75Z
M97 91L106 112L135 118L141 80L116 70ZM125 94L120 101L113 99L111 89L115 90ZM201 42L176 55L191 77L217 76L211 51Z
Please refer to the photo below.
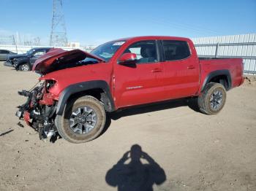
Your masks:
M116 53L119 47L124 44L125 41L113 41L107 42L105 44L99 45L99 47L95 48L91 51L91 54L97 55L99 58L104 59L105 61L109 61L110 58Z

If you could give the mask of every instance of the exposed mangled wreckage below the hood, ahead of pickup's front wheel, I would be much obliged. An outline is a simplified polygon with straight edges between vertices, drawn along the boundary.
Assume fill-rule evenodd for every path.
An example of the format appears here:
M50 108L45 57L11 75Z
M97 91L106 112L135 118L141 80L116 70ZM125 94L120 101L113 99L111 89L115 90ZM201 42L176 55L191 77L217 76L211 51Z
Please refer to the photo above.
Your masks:
M27 125L37 130L39 139L56 136L57 129L54 123L56 118L57 101L48 90L54 85L53 80L41 82L32 90L19 91L19 95L27 97L25 104L18 106L16 116L24 120Z

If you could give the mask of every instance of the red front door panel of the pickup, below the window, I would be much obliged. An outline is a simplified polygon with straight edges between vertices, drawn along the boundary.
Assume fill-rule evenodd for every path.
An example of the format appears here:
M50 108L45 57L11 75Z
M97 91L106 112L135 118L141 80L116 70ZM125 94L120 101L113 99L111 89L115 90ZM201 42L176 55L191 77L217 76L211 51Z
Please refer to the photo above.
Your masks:
M160 63L141 63L135 68L116 65L115 96L118 107L147 104L159 100L163 90Z

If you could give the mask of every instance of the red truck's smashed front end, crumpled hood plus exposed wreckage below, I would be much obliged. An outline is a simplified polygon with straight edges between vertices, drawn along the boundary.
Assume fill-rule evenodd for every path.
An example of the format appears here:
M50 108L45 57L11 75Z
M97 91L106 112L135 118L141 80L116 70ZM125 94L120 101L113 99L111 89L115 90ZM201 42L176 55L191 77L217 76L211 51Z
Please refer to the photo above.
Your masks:
M16 116L39 132L39 139L46 139L58 132L55 125L56 108L61 88L57 85L57 77L51 74L61 69L83 66L86 58L94 58L103 62L102 58L82 50L62 50L54 48L35 61L32 71L40 74L40 85L32 90L22 90L19 95L27 97L25 104L18 106ZM59 76L61 78L61 76Z

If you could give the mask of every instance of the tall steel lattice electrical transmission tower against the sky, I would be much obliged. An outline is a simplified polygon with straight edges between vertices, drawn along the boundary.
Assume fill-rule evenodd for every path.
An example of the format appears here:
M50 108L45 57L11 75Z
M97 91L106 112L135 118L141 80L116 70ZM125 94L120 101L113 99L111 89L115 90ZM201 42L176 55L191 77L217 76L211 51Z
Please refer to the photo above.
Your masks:
M53 0L53 20L50 31L50 46L67 46L67 30L62 9L62 0Z

